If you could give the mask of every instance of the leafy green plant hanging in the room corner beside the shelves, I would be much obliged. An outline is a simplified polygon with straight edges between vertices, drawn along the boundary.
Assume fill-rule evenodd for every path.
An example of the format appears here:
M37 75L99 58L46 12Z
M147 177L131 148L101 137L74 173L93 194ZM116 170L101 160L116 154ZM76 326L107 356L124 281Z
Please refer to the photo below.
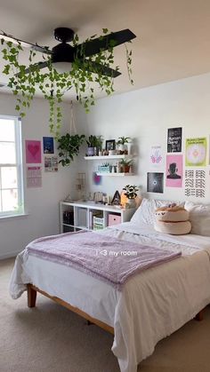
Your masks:
M69 133L58 139L58 150L60 150L59 156L61 157L59 162L61 162L63 167L68 166L74 160L74 156L79 153L79 147L83 144L84 140L85 134L70 136Z

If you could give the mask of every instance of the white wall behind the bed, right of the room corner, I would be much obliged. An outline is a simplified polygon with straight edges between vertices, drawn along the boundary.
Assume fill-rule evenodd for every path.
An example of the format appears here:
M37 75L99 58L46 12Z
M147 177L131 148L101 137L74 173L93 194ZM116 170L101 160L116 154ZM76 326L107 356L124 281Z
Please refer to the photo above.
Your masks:
M159 169L152 167L149 162L149 150L152 145L161 145L166 155L167 129L174 127L182 127L182 154L184 154L186 138L207 137L208 141L210 74L99 99L89 115L84 115L83 110L79 109L77 121L83 123L86 121L86 130L90 134L102 134L104 139L129 136L135 140L139 149L135 160L135 176L104 177L101 186L94 186L92 181L93 170L96 170L98 162L89 161L89 189L114 194L117 189L121 191L126 184L134 183L141 185L142 194L147 197L186 200L184 188L166 187L166 178L164 194L146 193L147 172L166 172L165 163ZM207 163L209 162L208 151L207 149ZM190 197L189 200L210 202L209 166L204 169L206 169L206 198L199 200Z

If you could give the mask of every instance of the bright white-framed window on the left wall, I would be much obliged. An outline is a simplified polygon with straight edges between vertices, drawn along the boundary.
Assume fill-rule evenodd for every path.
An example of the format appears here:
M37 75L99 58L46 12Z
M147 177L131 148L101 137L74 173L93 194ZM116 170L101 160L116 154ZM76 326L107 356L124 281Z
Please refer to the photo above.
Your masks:
M23 212L21 122L0 115L0 217Z

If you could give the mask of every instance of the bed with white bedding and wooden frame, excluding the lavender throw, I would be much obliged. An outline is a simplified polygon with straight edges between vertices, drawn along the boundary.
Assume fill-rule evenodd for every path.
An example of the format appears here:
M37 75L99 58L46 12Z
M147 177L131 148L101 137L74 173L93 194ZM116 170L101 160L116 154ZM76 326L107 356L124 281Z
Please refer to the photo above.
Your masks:
M134 241L157 250L181 251L181 257L136 273L118 290L75 267L30 256L24 249L12 272L12 298L28 290L28 305L34 306L38 291L108 330L114 335L112 352L120 371L136 372L159 340L201 316L210 303L209 207L185 203L192 233L174 236L153 228L154 210L166 203L143 199L130 222L100 233L128 241L128 247Z

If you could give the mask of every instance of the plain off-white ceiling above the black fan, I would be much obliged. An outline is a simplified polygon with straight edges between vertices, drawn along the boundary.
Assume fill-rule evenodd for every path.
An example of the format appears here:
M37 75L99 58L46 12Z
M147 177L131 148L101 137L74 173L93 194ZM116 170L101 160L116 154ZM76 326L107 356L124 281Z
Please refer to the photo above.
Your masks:
M80 40L101 35L102 28L133 31L134 85L126 74L125 47L118 46L117 93L210 71L209 0L0 0L0 29L12 36L52 47L57 27L73 28ZM0 74L0 82L6 76Z

